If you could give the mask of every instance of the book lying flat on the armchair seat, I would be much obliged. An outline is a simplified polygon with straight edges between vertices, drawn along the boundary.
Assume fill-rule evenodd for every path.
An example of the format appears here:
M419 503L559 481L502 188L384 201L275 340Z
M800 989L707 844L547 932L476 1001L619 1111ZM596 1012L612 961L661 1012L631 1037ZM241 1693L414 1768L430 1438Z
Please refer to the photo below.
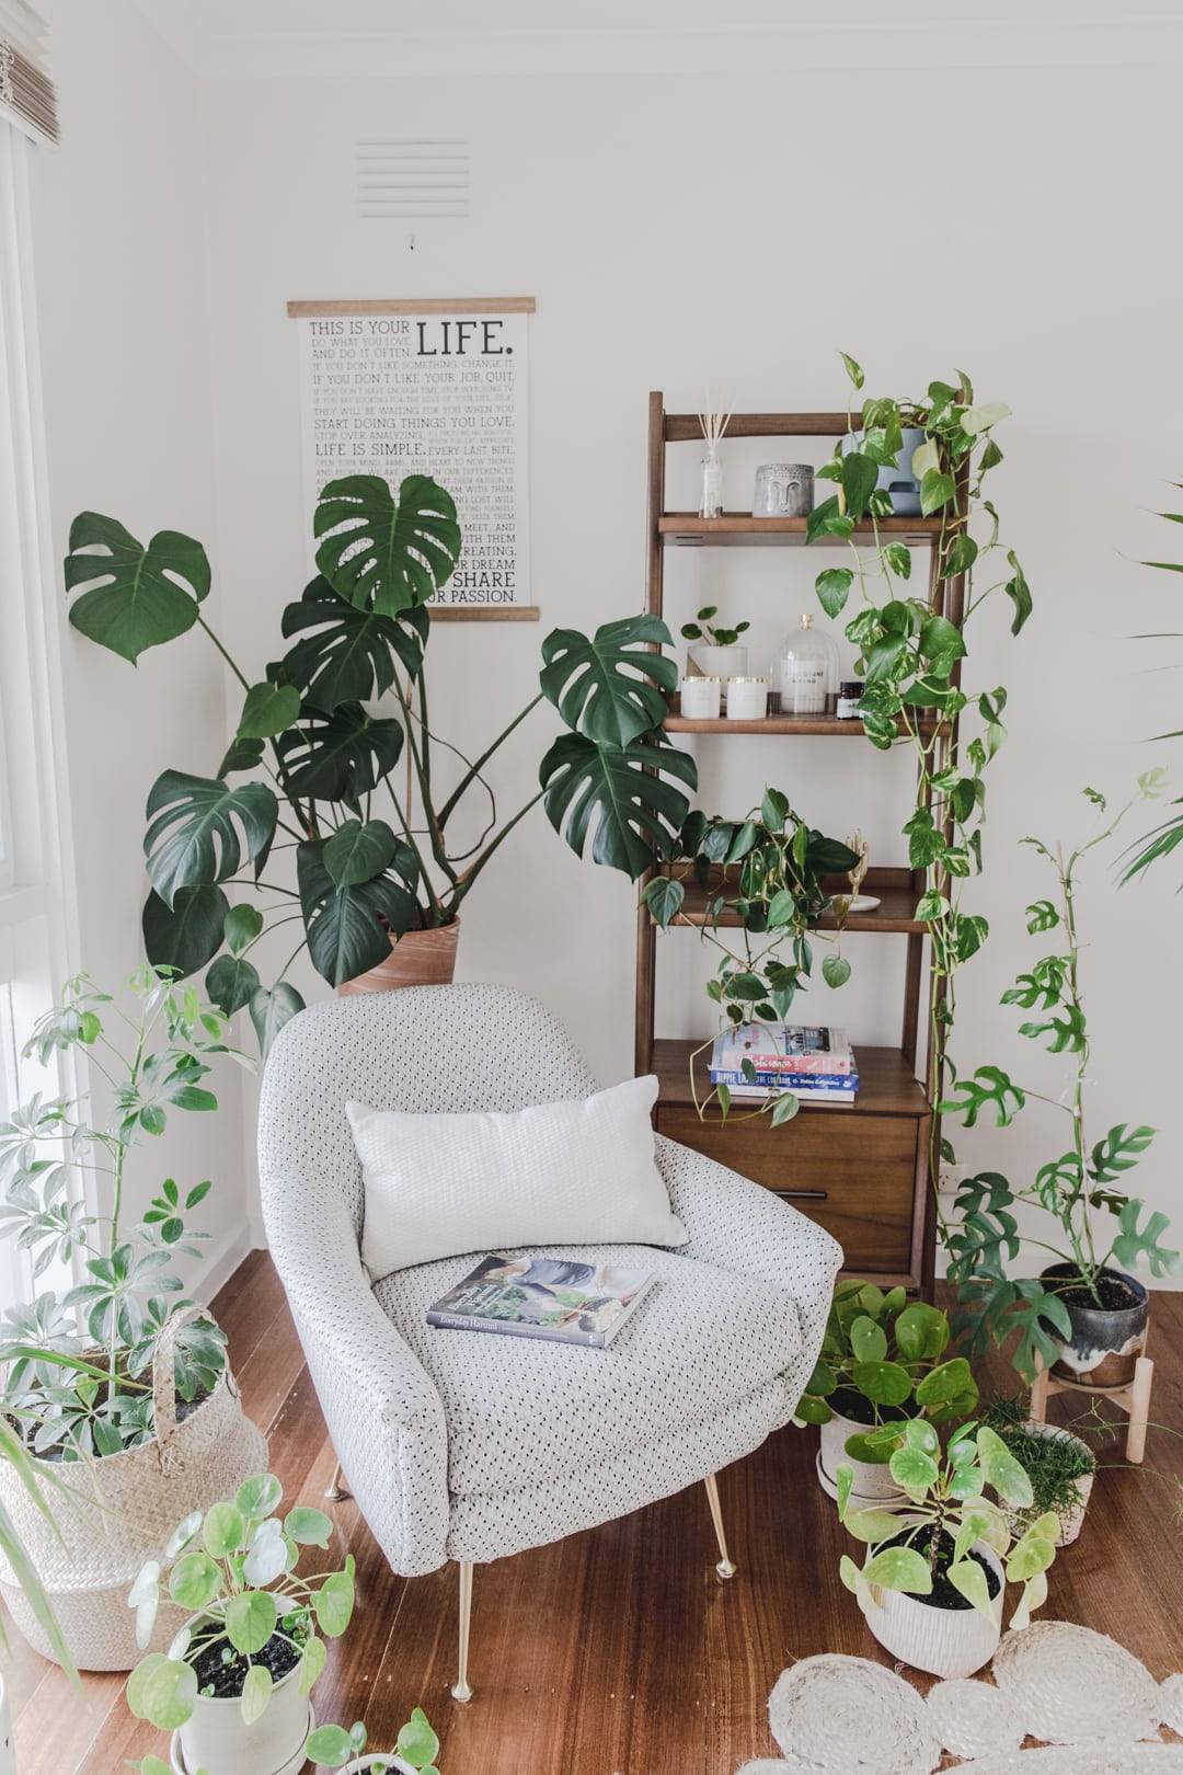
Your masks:
M603 1349L654 1283L651 1271L560 1257L482 1257L427 1308L427 1324Z

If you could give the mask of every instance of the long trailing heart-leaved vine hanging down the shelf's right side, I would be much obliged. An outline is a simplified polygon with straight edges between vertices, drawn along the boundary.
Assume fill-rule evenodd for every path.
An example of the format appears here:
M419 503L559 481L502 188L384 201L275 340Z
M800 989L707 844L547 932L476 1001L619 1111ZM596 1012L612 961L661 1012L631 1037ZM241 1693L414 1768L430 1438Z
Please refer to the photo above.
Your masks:
M862 367L846 353L842 362L853 389L860 390ZM864 399L858 435L841 440L818 469L818 479L837 486L814 506L807 524L811 543L823 538L850 543L850 566L825 568L816 591L830 618L846 612L851 595L858 602L846 621L846 635L858 648L857 669L866 678L858 708L866 735L880 749L903 735L917 758L917 799L905 838L912 868L924 872L917 919L926 925L933 946L929 1074L935 1102L956 1079L949 1053L956 974L988 937L986 919L961 909L961 889L967 877L981 872L984 772L1004 738L1006 690L961 689L967 627L997 593L1013 605L1015 635L1032 607L1027 577L1015 550L1000 540L993 502L983 495L986 476L1002 462L993 428L1007 414L1000 403L977 405L963 371L954 382L931 382L922 399ZM924 442L910 463L901 463L906 430L921 430ZM912 548L899 536L880 531L880 520L892 513L890 493L876 485L883 467L910 469L921 485L922 515L938 518L929 582L919 593L912 589ZM860 520L871 525L869 550L866 531L855 532ZM995 570L1000 561L1006 566ZM968 738L960 722L963 714L975 715L981 724ZM940 1141L929 1164L936 1180L940 1156L956 1157L949 1141L940 1140L936 1116L933 1141Z

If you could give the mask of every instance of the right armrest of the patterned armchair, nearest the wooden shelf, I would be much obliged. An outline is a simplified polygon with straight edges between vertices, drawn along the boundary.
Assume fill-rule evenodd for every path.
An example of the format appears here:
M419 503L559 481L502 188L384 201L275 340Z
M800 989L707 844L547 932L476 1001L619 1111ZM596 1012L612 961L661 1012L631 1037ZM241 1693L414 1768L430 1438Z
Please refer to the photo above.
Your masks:
M656 1161L674 1214L690 1234L679 1255L784 1289L796 1303L802 1351L812 1369L842 1264L837 1239L772 1189L663 1134L656 1136Z

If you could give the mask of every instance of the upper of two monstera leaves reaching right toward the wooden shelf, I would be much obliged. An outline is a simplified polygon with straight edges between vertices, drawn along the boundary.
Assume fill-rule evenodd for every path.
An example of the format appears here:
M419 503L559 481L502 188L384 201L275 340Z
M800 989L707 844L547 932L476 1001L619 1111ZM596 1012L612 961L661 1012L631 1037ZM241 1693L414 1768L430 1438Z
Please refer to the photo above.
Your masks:
M678 687L678 666L646 643L672 644L660 616L603 623L589 639L578 628L553 628L543 641L543 692L575 733L598 746L628 746L660 728L663 690Z

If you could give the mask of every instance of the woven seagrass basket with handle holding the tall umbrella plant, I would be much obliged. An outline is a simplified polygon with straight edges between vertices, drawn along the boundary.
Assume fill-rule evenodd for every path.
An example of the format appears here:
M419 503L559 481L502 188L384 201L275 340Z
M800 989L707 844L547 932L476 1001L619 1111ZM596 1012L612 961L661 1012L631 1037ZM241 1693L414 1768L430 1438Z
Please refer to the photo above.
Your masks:
M0 1461L0 1505L12 1518L80 1670L129 1670L138 1663L144 1651L135 1642L128 1590L140 1566L161 1557L168 1535L190 1511L232 1498L245 1479L266 1471L266 1438L243 1413L229 1369L209 1399L177 1422L174 1340L199 1312L202 1308L193 1306L174 1314L156 1345L153 1441L103 1459L34 1463L46 1473L41 1489L57 1534L9 1463ZM50 1480L67 1486L69 1493ZM53 1658L2 1557L0 1594L28 1644L43 1658ZM183 1610L161 1605L147 1651L163 1651L183 1622Z

